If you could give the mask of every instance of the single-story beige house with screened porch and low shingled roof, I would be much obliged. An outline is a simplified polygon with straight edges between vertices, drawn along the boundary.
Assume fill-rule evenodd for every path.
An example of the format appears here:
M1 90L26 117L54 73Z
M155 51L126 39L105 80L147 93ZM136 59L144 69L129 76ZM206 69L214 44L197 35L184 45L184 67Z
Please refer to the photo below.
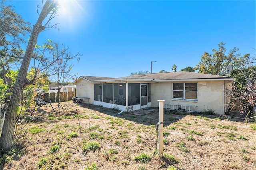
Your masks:
M75 82L76 96L90 97L94 105L134 111L158 107L158 100L165 100L165 108L210 109L222 115L229 103L225 94L232 81L226 76L178 71L120 78L81 76Z

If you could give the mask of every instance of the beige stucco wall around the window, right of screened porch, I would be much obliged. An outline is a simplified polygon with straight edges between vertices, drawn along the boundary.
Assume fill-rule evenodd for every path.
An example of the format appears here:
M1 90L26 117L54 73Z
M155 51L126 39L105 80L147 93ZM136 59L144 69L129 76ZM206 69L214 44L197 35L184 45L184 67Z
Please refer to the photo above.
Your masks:
M224 81L199 81L194 83L198 83L197 101L172 99L171 82L151 83L151 106L158 107L157 100L165 100L164 104L197 106L195 108L197 112L211 109L217 114L224 114L224 103L226 101L224 89L228 83Z

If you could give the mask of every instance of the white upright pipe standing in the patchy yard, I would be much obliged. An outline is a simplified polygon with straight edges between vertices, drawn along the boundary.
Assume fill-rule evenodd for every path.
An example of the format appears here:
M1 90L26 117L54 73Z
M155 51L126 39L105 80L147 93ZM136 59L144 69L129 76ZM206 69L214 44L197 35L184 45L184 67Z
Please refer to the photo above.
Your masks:
M158 121L158 129L159 129L159 140L158 140L158 154L162 156L163 154L163 144L164 144L164 100L158 100L159 102L159 121Z

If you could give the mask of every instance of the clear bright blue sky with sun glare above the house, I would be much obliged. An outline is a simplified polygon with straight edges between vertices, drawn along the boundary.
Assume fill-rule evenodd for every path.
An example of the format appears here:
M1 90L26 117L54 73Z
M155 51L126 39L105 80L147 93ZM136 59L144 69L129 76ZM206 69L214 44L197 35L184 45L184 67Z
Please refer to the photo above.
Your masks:
M41 0L10 3L36 23ZM40 33L38 44L50 39L83 54L73 61L78 76L124 77L151 71L151 61L157 61L153 73L172 71L174 64L179 71L195 67L220 42L227 51L238 47L241 55L255 55L255 10L254 0L78 0L61 8L51 21L60 30Z

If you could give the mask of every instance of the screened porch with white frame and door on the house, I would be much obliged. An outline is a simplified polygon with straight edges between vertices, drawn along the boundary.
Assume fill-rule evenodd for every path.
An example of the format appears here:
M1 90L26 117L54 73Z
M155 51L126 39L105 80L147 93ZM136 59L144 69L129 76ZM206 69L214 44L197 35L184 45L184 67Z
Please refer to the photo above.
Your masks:
M95 83L94 104L121 110L150 107L150 83Z

